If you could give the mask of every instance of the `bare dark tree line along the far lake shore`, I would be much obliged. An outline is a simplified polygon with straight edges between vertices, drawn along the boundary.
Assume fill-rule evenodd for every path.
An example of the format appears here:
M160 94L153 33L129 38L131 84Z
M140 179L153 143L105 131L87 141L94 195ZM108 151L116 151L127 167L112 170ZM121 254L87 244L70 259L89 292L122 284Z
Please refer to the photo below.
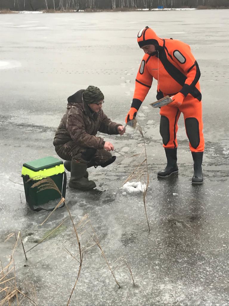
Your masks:
M0 0L0 9L14 11L226 8L228 6L228 0Z

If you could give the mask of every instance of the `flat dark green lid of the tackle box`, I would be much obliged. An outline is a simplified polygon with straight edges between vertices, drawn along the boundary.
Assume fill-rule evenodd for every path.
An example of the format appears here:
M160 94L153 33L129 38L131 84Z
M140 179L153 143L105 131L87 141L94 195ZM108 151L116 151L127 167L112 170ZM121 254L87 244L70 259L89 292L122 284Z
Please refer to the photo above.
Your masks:
M63 164L62 160L55 158L53 156L47 156L40 159L32 160L31 162L26 162L23 167L26 167L32 171L40 171L43 169L53 168Z

